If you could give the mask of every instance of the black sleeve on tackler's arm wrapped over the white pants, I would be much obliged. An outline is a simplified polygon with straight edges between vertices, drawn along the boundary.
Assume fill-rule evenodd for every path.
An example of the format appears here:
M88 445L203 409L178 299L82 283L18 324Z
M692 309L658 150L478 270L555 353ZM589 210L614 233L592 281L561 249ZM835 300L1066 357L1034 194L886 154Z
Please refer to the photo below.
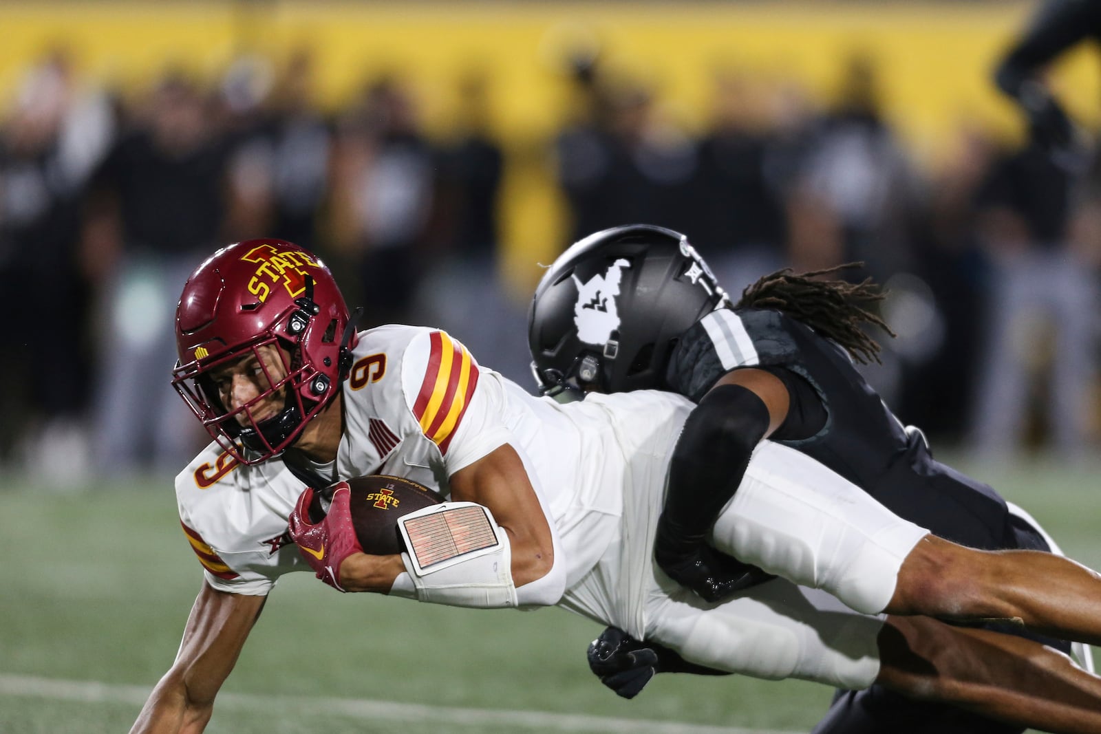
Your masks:
M753 391L719 385L704 396L685 421L669 463L658 526L666 550L702 543L734 496L750 456L767 430L768 408Z

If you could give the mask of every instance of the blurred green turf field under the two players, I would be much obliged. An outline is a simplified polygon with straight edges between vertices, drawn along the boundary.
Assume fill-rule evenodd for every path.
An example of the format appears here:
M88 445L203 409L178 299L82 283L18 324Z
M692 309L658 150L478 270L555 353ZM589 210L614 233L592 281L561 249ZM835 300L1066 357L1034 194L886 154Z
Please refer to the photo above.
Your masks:
M1101 567L1097 467L974 473ZM0 518L0 732L127 731L172 661L201 579L171 481L62 493L7 478ZM559 610L342 595L293 574L207 731L798 732L829 700L798 681L663 676L622 701L586 666L598 632Z

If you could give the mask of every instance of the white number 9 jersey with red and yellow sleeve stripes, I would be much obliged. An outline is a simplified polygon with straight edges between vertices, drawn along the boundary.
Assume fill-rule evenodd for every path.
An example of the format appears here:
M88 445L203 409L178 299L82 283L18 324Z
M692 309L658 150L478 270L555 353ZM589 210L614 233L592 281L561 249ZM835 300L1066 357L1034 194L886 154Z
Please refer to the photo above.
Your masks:
M628 457L641 457L647 467L659 459L655 465L664 467L691 407L665 393L592 395L560 406L480 366L437 329L370 329L359 335L352 357L336 478L395 474L448 496L451 474L511 443L547 513L567 588L589 574L621 536L623 487L632 471ZM614 410L604 407L609 401ZM661 478L648 483L655 481ZM181 472L181 522L212 587L265 594L281 574L308 569L285 535L303 489L282 461L241 465L216 443ZM618 568L606 571L600 593L581 589L582 600L573 604L567 593L568 605L589 615L623 616L600 599L619 576ZM641 610L631 616L637 614Z

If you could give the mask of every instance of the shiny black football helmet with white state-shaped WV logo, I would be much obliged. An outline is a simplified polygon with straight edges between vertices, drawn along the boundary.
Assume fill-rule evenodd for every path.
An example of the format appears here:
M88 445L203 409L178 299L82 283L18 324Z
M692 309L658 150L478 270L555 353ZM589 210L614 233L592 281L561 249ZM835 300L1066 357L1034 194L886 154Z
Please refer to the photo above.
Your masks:
M543 276L527 314L532 371L543 395L666 387L677 339L729 305L679 232L614 227L575 242Z

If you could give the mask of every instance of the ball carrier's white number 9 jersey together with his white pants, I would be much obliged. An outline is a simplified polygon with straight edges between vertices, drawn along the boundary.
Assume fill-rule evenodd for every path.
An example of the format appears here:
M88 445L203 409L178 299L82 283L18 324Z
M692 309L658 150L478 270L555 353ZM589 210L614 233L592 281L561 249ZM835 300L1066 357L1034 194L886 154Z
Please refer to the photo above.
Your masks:
M511 445L547 515L555 563L565 565L560 606L732 672L846 688L874 680L875 616L783 580L707 604L656 571L654 533L687 398L637 391L559 405L480 366L447 333L404 326L360 333L342 395L335 472L317 468L326 475L396 474L447 496L451 474ZM277 459L239 465L215 445L177 476L184 532L214 588L265 594L282 573L308 570L285 535L304 486ZM925 534L770 442L715 533L727 552L872 609Z

